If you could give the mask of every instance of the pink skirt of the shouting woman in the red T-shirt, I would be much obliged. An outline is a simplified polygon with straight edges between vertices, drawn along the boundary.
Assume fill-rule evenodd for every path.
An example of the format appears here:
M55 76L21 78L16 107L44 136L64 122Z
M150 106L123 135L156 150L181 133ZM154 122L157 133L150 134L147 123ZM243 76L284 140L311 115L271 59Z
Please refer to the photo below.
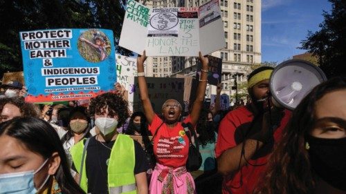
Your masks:
M149 185L150 194L196 194L194 180L185 166L172 168L156 163Z

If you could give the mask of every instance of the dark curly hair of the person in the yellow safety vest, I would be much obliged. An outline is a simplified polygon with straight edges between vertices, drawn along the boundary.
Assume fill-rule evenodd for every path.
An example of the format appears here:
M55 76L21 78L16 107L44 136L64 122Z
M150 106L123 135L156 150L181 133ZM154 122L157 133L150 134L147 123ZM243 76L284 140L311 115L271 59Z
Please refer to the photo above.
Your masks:
M107 108L109 115L118 116L118 128L125 124L129 117L127 101L114 93L104 93L92 98L88 113L90 117L93 117L95 114L103 114Z

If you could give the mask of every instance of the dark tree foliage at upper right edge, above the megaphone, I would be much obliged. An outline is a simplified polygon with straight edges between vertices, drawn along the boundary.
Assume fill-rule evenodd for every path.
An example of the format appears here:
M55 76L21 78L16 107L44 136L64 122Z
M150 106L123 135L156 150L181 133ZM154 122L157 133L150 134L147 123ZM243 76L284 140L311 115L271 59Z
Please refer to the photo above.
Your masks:
M325 20L320 23L320 30L309 31L307 39L300 42L300 48L317 57L318 64L327 77L333 77L346 75L346 1L329 2L332 9L330 13L323 11Z

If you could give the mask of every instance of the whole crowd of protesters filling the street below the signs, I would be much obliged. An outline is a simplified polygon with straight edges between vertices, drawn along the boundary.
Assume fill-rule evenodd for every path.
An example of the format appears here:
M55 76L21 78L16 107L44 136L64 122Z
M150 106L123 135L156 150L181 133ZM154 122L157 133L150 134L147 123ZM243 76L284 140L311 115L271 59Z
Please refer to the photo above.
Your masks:
M38 105L24 100L19 81L3 83L0 193L346 193L345 77L316 86L291 111L273 106L273 68L260 67L248 75L251 102L221 112L203 106L208 58L200 53L189 113L176 99L155 113L145 59L144 51L137 59L143 112L131 115L119 91L87 107ZM219 85L215 107L220 93ZM197 132L197 171L185 166L184 124Z

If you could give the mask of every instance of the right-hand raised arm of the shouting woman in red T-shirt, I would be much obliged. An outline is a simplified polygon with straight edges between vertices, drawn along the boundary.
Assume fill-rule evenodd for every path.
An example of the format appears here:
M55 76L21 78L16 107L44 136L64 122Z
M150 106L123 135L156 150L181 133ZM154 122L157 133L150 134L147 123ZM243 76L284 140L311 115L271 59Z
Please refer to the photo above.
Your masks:
M195 126L197 124L197 121L199 119L199 113L201 113L201 108L203 106L204 101L204 95L206 94L206 87L207 87L207 81L208 81L208 57L202 56L201 52L199 52L199 61L201 61L202 68L201 68L201 77L199 77L199 84L197 87L197 95L196 99L194 100L194 104L192 106L191 110L191 124Z

